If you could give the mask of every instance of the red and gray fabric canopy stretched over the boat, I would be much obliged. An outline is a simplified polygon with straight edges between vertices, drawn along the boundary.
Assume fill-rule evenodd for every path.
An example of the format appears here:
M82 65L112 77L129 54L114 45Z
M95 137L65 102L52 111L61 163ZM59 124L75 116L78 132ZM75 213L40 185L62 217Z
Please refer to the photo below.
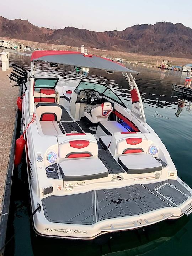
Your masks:
M31 61L47 61L49 63L75 67L96 68L123 73L139 73L107 58L95 55L85 55L80 52L73 51L35 51L31 55Z

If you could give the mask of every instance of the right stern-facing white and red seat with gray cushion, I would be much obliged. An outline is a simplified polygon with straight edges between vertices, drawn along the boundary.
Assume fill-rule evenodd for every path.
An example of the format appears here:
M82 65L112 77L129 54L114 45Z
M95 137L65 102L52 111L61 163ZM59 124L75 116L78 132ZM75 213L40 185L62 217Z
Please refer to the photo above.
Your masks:
M162 164L148 153L151 143L141 132L115 133L109 149L127 174L161 171Z

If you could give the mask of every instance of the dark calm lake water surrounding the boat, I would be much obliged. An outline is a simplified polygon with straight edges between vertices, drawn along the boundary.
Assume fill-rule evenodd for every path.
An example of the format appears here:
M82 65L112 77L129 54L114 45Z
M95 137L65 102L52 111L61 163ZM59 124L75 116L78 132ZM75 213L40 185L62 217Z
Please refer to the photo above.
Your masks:
M10 51L10 62L27 70L30 54ZM178 170L178 176L192 187L192 102L181 94L172 95L172 83L182 84L186 73L164 71L157 68L127 65L140 72L138 83L148 124L167 147ZM44 70L48 73L44 73ZM38 66L38 76L62 78L61 83L83 80L102 81L124 97L130 107L128 84L123 76L108 75L103 71L90 70L88 75L77 73L72 67L51 69L47 64ZM6 256L53 256L53 255L117 255L160 256L191 255L192 218L183 216L176 221L164 221L134 231L100 236L94 241L73 241L36 237L29 221L28 182L25 159L14 170L7 239L15 237L6 247Z

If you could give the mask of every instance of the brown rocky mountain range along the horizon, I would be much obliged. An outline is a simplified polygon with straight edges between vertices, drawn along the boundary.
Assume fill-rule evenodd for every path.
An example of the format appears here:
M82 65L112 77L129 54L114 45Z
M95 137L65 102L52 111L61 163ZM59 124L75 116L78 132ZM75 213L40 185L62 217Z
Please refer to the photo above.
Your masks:
M148 55L192 57L192 29L181 23L158 22L135 25L123 31L94 32L75 27L47 29L28 20L8 20L0 16L0 37L13 37L35 42L118 50Z

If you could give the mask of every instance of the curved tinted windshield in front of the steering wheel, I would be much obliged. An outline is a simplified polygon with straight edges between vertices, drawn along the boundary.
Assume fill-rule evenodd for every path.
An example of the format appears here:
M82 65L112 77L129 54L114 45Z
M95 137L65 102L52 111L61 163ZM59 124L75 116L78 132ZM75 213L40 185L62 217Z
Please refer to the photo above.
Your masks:
M81 81L76 87L76 91L79 93L81 90L95 90L100 93L100 95L112 99L113 101L121 104L123 107L126 107L122 100L114 93L109 87L101 85L99 83L91 83Z

